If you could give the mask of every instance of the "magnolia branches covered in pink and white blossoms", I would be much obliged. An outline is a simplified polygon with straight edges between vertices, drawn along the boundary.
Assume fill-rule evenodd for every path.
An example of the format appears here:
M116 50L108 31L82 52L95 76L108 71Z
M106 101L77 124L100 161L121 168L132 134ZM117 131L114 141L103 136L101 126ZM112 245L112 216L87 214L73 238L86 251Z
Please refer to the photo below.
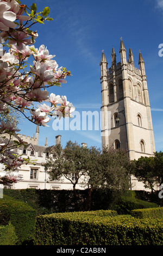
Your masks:
M70 71L58 66L44 45L35 48L38 34L32 31L35 23L53 20L49 8L37 13L36 4L28 8L18 0L0 0L0 111L15 109L40 126L47 126L51 117L72 117L74 107L66 96L51 93L48 88L66 83ZM33 58L29 65L29 58ZM38 102L38 104L34 104ZM37 105L37 107L35 107ZM25 146L12 123L0 123L0 183L11 184L22 179L18 168L29 158L15 154L14 149Z

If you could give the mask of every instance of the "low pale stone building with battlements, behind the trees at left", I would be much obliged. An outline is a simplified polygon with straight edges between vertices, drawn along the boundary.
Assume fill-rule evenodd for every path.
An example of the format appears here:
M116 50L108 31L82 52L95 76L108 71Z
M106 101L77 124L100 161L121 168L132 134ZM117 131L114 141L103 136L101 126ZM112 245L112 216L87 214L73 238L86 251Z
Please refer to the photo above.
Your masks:
M46 163L46 159L49 156L49 150L61 143L61 135L55 137L54 145L48 147L47 138L45 138L45 146L39 145L39 126L36 127L36 134L33 137L20 135L19 137L23 139L24 142L27 142L27 147L23 146L15 149L15 153L22 155L22 157L28 157L34 164L23 164L19 168L19 173L23 175L23 179L15 184L9 186L4 186L5 188L12 189L25 189L25 188L35 188L35 189L47 189L47 190L72 190L73 185L71 181L68 181L63 177L60 180L49 180L47 170L43 166ZM35 161L36 160L36 161ZM72 174L72 179L75 179ZM80 182L76 185L77 189L83 189L80 186Z

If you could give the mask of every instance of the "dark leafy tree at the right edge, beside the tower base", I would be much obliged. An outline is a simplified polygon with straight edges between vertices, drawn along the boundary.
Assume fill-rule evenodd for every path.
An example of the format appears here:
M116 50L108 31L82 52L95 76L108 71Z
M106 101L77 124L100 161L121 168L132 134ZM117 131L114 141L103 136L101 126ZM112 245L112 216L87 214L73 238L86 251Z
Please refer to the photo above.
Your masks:
M163 153L155 152L154 156L141 156L135 160L134 175L146 188L154 192L155 186L161 186L163 183Z

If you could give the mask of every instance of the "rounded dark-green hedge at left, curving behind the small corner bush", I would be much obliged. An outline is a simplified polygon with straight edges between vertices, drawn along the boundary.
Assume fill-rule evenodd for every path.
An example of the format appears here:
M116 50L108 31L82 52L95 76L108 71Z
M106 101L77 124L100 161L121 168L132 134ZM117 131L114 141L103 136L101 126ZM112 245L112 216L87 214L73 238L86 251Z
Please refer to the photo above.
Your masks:
M14 225L20 243L32 240L35 232L36 211L29 205L4 195L0 199L0 224Z

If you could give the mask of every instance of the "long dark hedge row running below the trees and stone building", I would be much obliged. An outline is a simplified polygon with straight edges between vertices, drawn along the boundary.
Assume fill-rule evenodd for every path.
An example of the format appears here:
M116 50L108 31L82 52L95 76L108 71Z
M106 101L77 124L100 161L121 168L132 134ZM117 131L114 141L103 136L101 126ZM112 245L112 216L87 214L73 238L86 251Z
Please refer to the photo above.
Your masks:
M35 190L27 188L22 190L4 189L4 195L13 199L26 202L36 210L37 215L51 214L52 212L84 211L87 202L88 190L77 190L78 204L73 191L67 190ZM139 191L140 193L141 191ZM128 191L120 194L111 190L93 190L91 198L91 210L116 210L118 214L130 214L131 210L158 207L159 204L148 202L149 193L139 200L137 191ZM141 193L142 194L142 193ZM146 196L145 196L146 195ZM155 195L154 198L159 198ZM156 200L153 198L153 202Z

